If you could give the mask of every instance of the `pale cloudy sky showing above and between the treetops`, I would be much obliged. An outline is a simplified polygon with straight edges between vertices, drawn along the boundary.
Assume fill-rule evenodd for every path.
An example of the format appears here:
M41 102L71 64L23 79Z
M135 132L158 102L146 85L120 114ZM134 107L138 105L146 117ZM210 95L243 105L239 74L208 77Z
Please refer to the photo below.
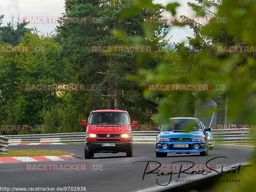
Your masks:
M189 0L155 0L154 3L161 3L167 5L169 3L178 2L180 6L176 9L177 15L194 16L194 13L190 10L187 5ZM64 0L0 0L0 14L4 14L3 24L6 25L12 20L12 15L14 21L17 21L18 15L20 14L20 19L24 17L60 17L61 13L64 11ZM189 2L195 2L195 0L190 0ZM171 13L164 12L163 16L172 16ZM54 31L56 24L49 23L38 23L38 24L28 24L28 28L36 27L41 34L46 34ZM193 31L187 26L177 27L172 26L169 29L167 38L171 37L170 42L185 42L187 44L186 36L193 36Z

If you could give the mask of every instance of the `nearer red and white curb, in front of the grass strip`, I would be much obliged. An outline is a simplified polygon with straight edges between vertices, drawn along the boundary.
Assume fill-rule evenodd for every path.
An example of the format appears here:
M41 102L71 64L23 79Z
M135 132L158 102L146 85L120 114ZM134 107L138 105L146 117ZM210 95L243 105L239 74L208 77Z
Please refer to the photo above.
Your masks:
M83 157L70 154L58 156L40 156L40 157L0 157L0 163L15 163L15 162L37 162L37 161L70 161L83 159Z

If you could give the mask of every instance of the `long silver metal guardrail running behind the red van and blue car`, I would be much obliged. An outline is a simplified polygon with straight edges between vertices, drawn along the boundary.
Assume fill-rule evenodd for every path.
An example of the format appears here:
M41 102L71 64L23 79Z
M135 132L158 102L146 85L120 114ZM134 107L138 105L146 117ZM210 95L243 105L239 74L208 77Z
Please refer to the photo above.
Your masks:
M133 141L155 142L157 131L133 131ZM256 142L250 131L244 129L215 130L211 131L213 141L217 142ZM84 142L83 133L60 133L60 134L33 134L33 135L8 135L9 142Z

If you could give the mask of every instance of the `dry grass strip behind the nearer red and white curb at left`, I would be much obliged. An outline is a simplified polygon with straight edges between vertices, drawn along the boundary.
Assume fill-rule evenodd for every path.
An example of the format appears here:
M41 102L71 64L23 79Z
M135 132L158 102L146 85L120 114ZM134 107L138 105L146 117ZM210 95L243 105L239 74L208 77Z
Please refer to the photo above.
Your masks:
M0 154L0 157L33 157L33 156L56 156L56 155L69 155L70 153L59 150L10 150L8 154Z

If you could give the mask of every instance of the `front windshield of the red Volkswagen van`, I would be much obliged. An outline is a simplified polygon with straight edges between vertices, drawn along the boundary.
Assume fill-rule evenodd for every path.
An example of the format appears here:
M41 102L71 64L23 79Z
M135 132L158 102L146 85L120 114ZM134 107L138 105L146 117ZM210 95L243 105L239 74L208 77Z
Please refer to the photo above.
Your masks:
M124 112L93 112L88 124L103 124L103 125L129 125L129 117Z

